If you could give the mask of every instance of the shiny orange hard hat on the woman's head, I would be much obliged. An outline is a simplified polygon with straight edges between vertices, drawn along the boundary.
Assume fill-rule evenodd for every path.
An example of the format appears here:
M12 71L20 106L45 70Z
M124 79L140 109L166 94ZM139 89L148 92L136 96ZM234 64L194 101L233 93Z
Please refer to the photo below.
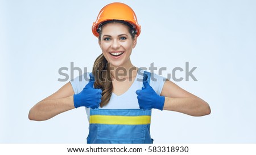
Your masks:
M126 21L129 24L131 24L135 31L137 36L141 33L141 25L138 24L137 16L135 15L135 12L133 9L124 3L110 3L109 5L106 5L103 7L98 14L97 20L93 22L92 25L92 32L93 35L98 37L98 27L101 23L104 21L110 21L110 20L121 20Z

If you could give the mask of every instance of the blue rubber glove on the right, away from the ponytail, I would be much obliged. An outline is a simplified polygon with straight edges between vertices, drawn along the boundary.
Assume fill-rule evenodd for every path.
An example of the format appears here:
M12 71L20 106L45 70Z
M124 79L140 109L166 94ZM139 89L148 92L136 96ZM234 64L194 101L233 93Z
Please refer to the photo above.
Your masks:
M147 75L143 78L143 85L144 88L142 87L142 90L136 91L139 108L144 110L152 108L163 110L165 98L156 94L154 89L148 84Z

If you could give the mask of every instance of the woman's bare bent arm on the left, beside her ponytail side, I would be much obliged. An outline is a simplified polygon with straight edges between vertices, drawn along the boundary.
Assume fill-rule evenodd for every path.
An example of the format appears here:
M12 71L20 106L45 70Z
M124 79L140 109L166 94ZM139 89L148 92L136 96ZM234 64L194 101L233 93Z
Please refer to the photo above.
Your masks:
M57 92L33 106L28 118L30 120L47 120L64 111L74 109L73 94L72 85L68 82Z

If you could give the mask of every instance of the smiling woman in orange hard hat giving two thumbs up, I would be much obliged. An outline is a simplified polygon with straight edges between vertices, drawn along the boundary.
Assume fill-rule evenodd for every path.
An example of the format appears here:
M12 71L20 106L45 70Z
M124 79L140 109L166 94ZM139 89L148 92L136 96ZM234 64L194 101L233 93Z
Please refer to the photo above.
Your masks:
M38 102L31 108L29 119L47 120L85 106L90 122L87 143L152 143L151 109L192 116L210 114L207 102L131 63L141 26L129 6L106 5L93 23L92 32L102 50L93 72L85 73L82 81L77 77Z

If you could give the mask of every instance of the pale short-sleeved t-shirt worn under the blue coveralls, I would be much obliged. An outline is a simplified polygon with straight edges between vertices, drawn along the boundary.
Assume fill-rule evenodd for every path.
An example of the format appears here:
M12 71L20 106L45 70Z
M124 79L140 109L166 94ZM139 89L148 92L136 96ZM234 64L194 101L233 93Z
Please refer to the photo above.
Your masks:
M99 109L139 109L137 94L135 92L143 87L143 72L144 70L139 70L133 84L125 93L121 95L112 93L109 103L104 107L99 107ZM88 84L90 79L89 74L90 72L86 72L70 81L75 94L80 93L85 85ZM150 86L159 95L162 92L164 81L166 81L166 78L163 76L151 73ZM89 120L90 109L85 107L85 110Z

